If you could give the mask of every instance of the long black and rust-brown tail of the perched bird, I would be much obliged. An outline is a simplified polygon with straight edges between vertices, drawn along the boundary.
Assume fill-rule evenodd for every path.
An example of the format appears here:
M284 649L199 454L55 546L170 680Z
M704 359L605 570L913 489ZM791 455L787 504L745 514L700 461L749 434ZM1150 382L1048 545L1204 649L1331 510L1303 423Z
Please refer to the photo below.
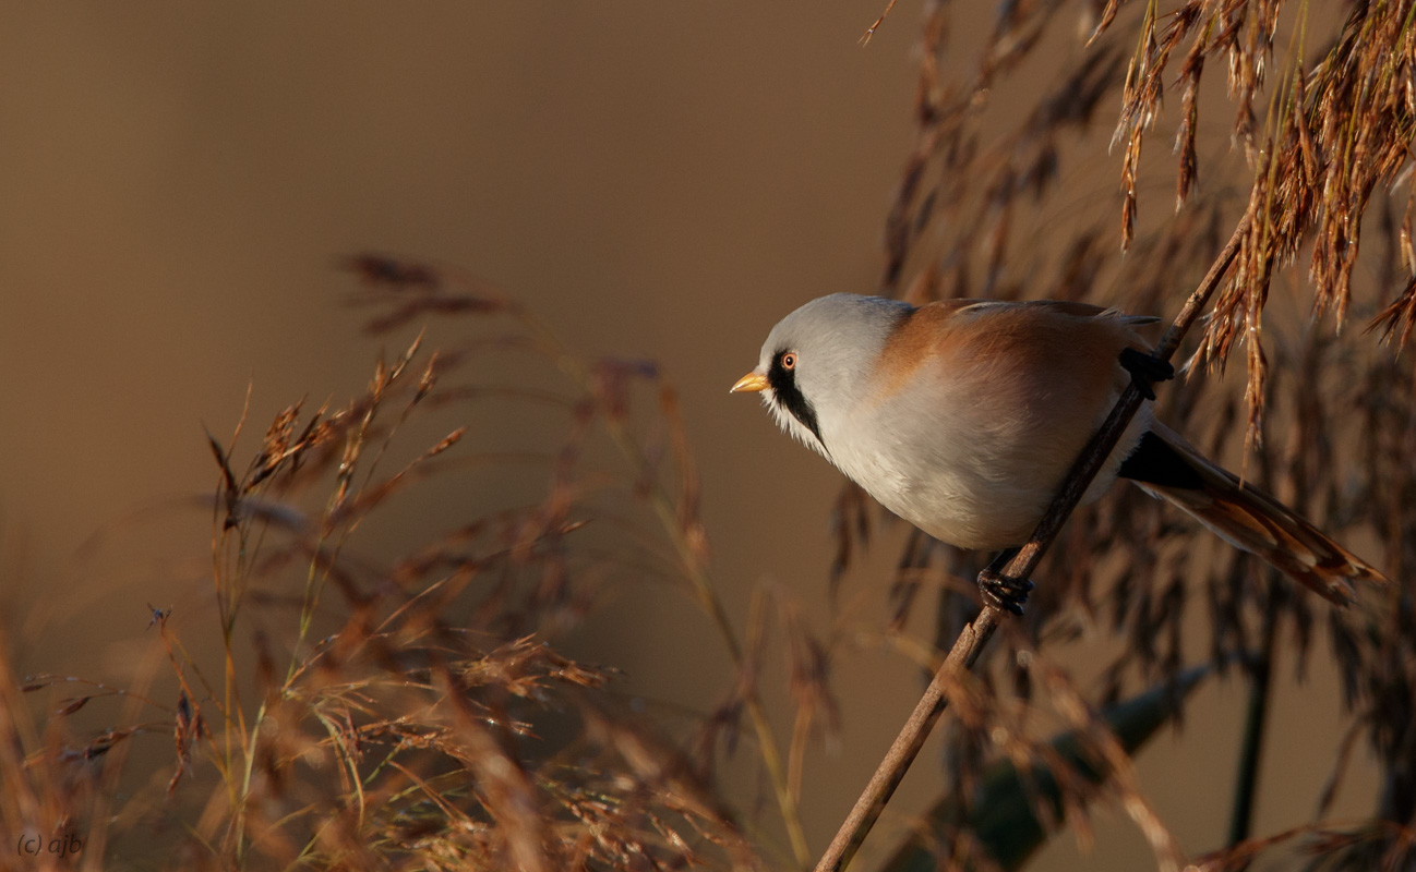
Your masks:
M1141 437L1120 476L1334 603L1352 602L1354 579L1386 582L1366 561L1272 495L1242 484L1160 423Z

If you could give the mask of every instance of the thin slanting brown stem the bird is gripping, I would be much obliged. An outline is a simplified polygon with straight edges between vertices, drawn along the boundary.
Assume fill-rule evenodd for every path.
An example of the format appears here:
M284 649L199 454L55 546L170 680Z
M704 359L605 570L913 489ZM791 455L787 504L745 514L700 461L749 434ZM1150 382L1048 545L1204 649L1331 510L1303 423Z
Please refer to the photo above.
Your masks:
M1160 344L1155 345L1155 357L1168 361L1175 354L1181 340L1185 338L1185 333L1195 323L1195 319L1199 317L1215 289L1219 287L1221 279L1223 279L1229 265L1233 263L1247 232L1249 214L1246 212L1229 238L1229 243L1219 252L1219 256L1199 283L1199 287L1189 294L1184 309L1180 310L1170 330L1165 331ZM1082 494L1086 493L1092 478L1102 469L1102 463L1116 447L1117 440L1120 440L1121 433L1136 415L1136 411L1140 409L1140 391L1136 389L1136 385L1129 385L1121 392L1120 399L1117 399L1112 415L1102 425L1102 429L1092 436L1092 442L1087 443L1082 456L1073 464L1070 474L1062 484L1062 490L1052 500L1052 505L1042 515L1042 521L1038 522L1037 529L1032 531L1032 538L1028 539L1028 544L1008 563L1004 570L1005 575L1011 578L1028 578L1032 575L1044 552L1046 552L1052 539L1056 538L1058 531L1062 529L1062 524L1072 514ZM971 668L974 661L978 660L978 654L988 644L988 638L998 627L1003 614L1001 609L986 606L978 613L978 617L959 634L953 648L949 651L949 657L944 658L943 665L935 672L933 681L925 688L925 695L920 696L919 705L915 706L899 736L895 738L895 743L891 745L885 759L875 769L875 774L871 776L861 797L855 801L855 807L851 808L845 821L841 822L841 828L837 831L835 838L831 839L831 845L821 855L821 861L816 865L816 872L838 872L855 856L855 851L865 841L871 827L875 825L875 820L885 810L891 794L899 787L910 763L915 762L915 756L919 753L920 746L925 745L925 739L929 738L929 732L935 728L935 722L939 721L939 715L947 706L946 688L957 681L957 677Z

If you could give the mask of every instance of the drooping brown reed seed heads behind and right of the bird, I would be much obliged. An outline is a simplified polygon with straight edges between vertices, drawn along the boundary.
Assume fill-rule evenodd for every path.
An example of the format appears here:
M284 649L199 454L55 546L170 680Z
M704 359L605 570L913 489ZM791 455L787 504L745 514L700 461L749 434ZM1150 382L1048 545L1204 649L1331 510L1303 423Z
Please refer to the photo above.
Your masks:
M1073 13L1082 27L1069 44L1058 23ZM1187 347L1189 378L1163 392L1160 416L1340 538L1371 542L1399 585L1368 592L1352 613L1330 613L1127 494L1079 512L1063 531L1038 573L1022 633L1008 638L1010 653L1022 640L1055 646L1102 621L1126 644L1093 699L1114 699L1137 682L1172 681L1197 654L1221 670L1239 654L1250 664L1245 672L1255 698L1263 699L1267 662L1291 658L1301 677L1315 631L1325 627L1352 712L1351 735L1365 732L1383 767L1381 824L1361 830L1352 845L1308 842L1347 868L1369 868L1362 864L1371 858L1400 868L1416 813L1408 753L1416 735L1408 586L1416 544L1416 395L1409 365L1395 357L1410 335L1416 275L1409 242L1413 16L1412 3L1017 3L978 27L950 4L926 3L918 130L886 222L881 279L885 290L916 302L1055 297L1170 314L1229 229L1245 221L1238 268L1204 335ZM1208 61L1226 71L1222 89L1209 86L1215 76L1205 72L1215 64ZM1181 98L1168 122L1178 157L1175 215L1146 221L1147 191L1161 188L1163 173L1150 167L1154 159L1141 160L1143 144L1167 123L1164 96L1172 91ZM1112 99L1120 103L1114 129L1104 112L1097 117ZM1225 113L1225 103L1233 117L1229 142L1206 142L1205 119ZM1120 171L1114 198L1097 195L1112 190L1109 174L1117 168L1097 168L1107 140ZM1226 156L1226 146L1235 154ZM1109 255L1104 242L1117 217L1124 259ZM1294 304L1300 294L1307 306ZM1354 344L1351 334L1335 338L1328 324L1341 330L1352 317L1366 320L1388 347ZM1195 378L1198 364L1222 371L1236 350L1247 364L1242 394ZM1266 432L1281 439L1260 453ZM833 586L850 579L871 529L854 517L864 514L857 498L847 488L837 510ZM970 555L909 535L896 573L896 624L905 626L920 585L937 585L936 646L949 648L970 613L978 568ZM1187 627L1197 620L1209 636L1206 651L1187 647ZM1010 657L998 660L991 671L1031 687ZM1262 745L1263 706L1256 711ZM967 730L952 730L960 746L952 767L961 784L981 771L987 755ZM1324 759L1334 786L1354 740ZM1257 746L1243 755L1257 759ZM1246 804L1245 790L1236 788L1236 805ZM1121 804L1129 800L1123 791ZM1331 801L1332 791L1321 797L1320 815ZM1236 842L1249 827L1242 817L1236 813ZM1276 854L1308 832L1246 842L1245 856ZM949 844L957 847L946 839L943 848ZM1239 855L1238 848L1218 851L1208 862L1238 868Z

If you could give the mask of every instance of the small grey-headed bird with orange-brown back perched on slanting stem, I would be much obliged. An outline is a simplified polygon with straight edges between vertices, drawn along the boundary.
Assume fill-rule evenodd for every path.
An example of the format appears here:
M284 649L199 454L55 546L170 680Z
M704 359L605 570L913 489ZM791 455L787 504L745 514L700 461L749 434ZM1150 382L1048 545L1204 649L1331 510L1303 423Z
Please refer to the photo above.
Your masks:
M1062 300L903 300L835 293L767 334L731 392L891 512L964 549L1000 551L980 589L1022 613L1032 583L1003 575L1129 384L1140 411L1082 495L1127 478L1327 600L1385 576L1155 419L1170 364L1138 333L1158 319Z

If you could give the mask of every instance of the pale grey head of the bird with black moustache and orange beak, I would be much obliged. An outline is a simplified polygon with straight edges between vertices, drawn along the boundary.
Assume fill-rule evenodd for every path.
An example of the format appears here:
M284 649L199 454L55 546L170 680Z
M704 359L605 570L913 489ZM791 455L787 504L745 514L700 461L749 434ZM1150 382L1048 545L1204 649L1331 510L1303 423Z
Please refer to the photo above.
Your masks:
M760 391L783 430L830 459L831 425L864 395L891 330L913 306L834 293L801 306L767 334L758 367L733 391Z

